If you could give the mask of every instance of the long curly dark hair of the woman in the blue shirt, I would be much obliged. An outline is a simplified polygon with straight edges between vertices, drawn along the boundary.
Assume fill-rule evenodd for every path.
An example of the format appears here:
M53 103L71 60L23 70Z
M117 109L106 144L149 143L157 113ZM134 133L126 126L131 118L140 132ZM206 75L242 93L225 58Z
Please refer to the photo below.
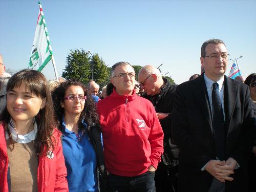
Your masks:
M70 86L81 87L84 92L84 96L87 96L87 99L84 102L84 108L83 108L83 110L79 116L79 119L78 119L79 131L82 131L82 133L85 133L86 129L82 125L82 120L85 120L85 122L88 125L88 130L90 130L91 127L93 127L94 125L99 125L99 116L97 113L96 105L91 96L91 92L88 91L88 89L86 88L86 86L84 86L84 84L82 82L80 82L76 79L70 79L70 80L61 82L52 94L54 111L55 111L55 115L58 119L58 127L61 132L64 131L64 130L62 130L61 122L62 122L62 116L63 116L63 114L65 114L64 113L65 109L61 107L61 102L63 102L65 93Z

